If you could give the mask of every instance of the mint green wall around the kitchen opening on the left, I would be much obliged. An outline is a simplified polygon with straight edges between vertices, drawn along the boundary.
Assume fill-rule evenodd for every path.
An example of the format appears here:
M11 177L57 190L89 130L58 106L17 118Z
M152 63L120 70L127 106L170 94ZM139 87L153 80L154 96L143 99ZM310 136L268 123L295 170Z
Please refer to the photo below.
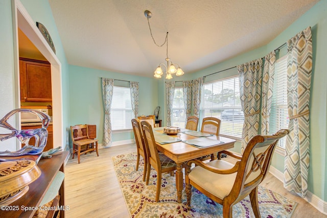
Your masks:
M19 107L18 105L18 80L15 73L17 66L16 53L14 47L15 23L12 20L11 0L0 1L0 117L6 113ZM69 127L69 92L68 92L68 65L64 55L64 50L57 31L57 27L52 15L52 11L48 1L43 0L22 0L32 19L41 22L51 33L52 40L56 47L56 54L62 64L62 90L63 90L63 125L64 128ZM34 22L34 23L35 23ZM65 130L64 130L65 131ZM64 144L68 141L64 139ZM11 145L15 144L14 142ZM63 146L65 146L63 145ZM6 149L15 150L12 146ZM68 147L68 146L67 146Z

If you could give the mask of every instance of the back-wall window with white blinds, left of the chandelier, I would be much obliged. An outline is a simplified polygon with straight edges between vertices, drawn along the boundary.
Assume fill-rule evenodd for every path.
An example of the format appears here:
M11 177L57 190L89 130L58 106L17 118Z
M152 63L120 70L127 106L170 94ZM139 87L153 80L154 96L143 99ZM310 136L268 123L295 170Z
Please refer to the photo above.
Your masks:
M112 130L132 129L131 120L134 118L134 113L129 87L113 87L110 113Z

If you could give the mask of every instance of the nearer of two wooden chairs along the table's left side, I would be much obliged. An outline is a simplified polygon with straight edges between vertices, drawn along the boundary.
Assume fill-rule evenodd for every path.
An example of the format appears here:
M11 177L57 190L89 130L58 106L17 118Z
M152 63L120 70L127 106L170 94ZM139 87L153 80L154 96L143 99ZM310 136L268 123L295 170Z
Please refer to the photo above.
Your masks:
M164 154L158 153L157 146L152 131L152 126L147 121L141 121L141 126L144 135L145 148L148 156L148 169L147 169L147 181L149 184L151 166L157 172L157 190L155 201L159 202L160 187L161 187L161 174L168 173L176 170L175 162Z

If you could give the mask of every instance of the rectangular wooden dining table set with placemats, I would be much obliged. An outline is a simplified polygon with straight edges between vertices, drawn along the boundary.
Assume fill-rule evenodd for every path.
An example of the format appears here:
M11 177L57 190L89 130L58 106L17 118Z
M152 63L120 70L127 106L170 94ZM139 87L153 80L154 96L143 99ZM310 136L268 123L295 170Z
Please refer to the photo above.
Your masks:
M156 130L157 129L157 130ZM155 131L163 133L162 128L155 128ZM178 138L182 141L196 139L197 137L181 132L177 135L170 135L171 137ZM190 144L186 144L182 141L169 144L160 144L156 142L157 149L175 161L177 165L176 170L176 189L177 189L177 202L182 202L182 190L183 190L183 171L182 164L185 161L189 161L198 157L202 157L208 154L217 154L219 151L230 149L234 147L236 142L233 139L226 137L212 135L207 137L208 139L219 140L221 144L213 145L209 147L198 148Z

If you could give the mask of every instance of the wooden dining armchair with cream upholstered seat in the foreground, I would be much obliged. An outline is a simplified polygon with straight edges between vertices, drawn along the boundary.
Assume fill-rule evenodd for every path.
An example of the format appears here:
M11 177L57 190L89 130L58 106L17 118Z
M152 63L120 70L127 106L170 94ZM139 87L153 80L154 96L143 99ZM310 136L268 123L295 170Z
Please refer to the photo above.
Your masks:
M191 208L192 186L223 206L223 217L232 217L232 206L250 195L255 217L261 217L258 185L266 177L271 157L279 139L289 133L282 129L273 135L256 135L248 143L243 156L221 151L238 159L235 165L217 159L208 163L191 160L185 175L186 207ZM191 170L192 163L197 165Z

